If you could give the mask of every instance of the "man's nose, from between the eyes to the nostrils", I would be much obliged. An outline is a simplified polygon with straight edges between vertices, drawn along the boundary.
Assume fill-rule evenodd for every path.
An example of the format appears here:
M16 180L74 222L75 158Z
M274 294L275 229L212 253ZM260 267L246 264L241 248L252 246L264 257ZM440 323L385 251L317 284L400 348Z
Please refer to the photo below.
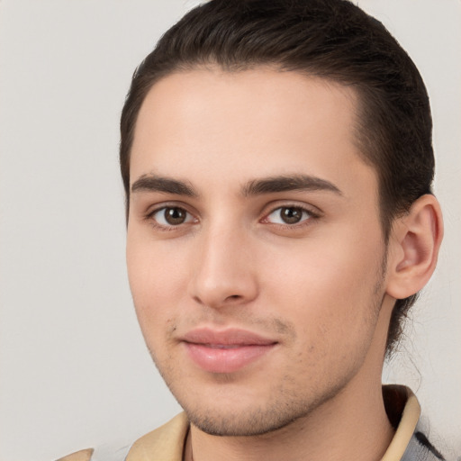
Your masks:
M250 303L258 296L254 252L245 232L216 229L197 241L189 291L194 301L212 308Z

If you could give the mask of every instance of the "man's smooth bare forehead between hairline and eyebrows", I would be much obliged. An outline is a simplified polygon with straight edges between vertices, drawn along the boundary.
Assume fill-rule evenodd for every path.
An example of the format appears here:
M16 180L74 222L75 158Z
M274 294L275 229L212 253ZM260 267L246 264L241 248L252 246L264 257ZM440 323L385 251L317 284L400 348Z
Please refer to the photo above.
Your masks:
M152 172L188 177L198 169L218 181L356 176L369 169L356 145L356 100L350 87L274 68L172 74L140 108L131 183Z

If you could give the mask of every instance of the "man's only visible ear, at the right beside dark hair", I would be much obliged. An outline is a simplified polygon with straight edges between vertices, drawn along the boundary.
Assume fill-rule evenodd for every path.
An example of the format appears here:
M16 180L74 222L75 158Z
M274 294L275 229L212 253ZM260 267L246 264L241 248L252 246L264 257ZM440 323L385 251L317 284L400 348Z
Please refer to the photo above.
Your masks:
M422 195L410 212L393 223L389 241L386 293L403 299L426 285L437 264L443 237L440 205L434 195Z

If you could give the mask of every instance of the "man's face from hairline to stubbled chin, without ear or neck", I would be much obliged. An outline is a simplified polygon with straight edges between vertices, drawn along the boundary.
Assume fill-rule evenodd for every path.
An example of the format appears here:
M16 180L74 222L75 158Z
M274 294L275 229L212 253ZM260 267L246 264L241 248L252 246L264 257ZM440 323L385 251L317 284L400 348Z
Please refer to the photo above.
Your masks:
M382 361L377 181L354 127L352 90L270 68L198 68L146 97L131 150L131 292L198 428L282 428L371 373L376 342Z

